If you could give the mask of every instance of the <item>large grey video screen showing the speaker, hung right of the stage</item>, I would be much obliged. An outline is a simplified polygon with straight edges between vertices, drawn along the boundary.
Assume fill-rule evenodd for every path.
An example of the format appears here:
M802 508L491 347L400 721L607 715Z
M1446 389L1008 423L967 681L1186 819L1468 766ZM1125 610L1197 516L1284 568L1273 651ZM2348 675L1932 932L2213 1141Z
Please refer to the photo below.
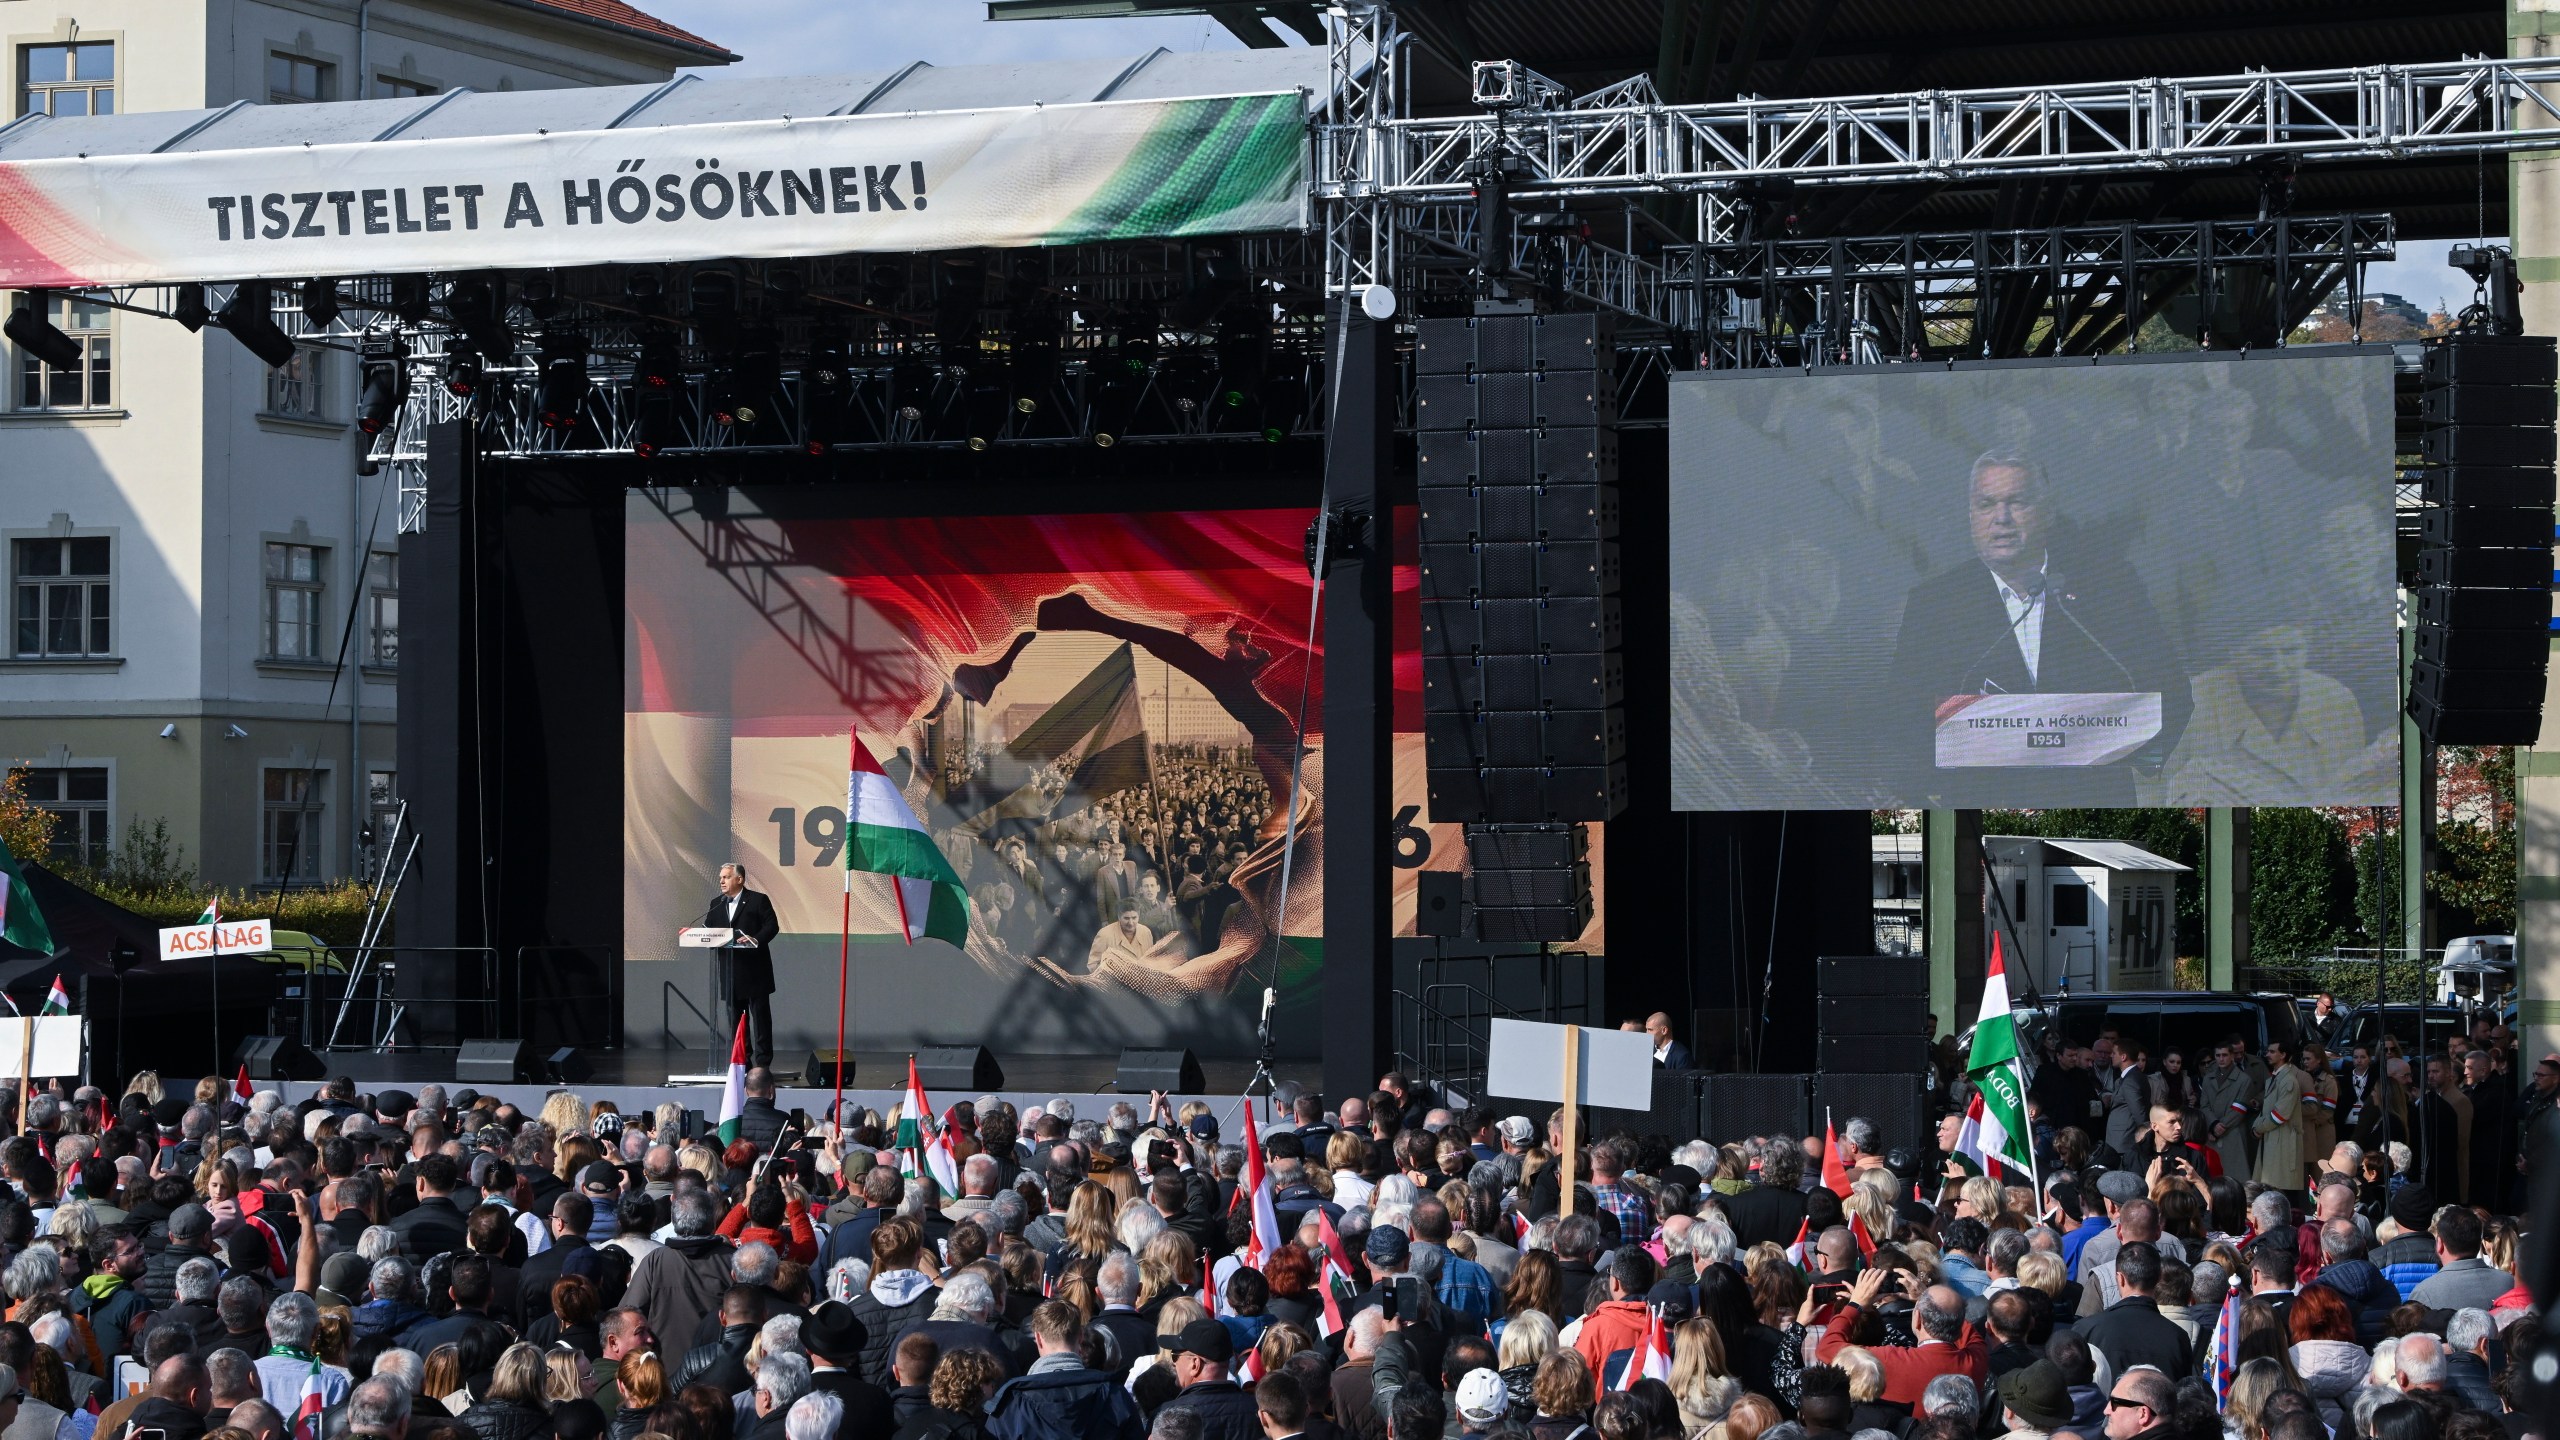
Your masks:
M1677 810L2391 805L2391 356L1672 387Z

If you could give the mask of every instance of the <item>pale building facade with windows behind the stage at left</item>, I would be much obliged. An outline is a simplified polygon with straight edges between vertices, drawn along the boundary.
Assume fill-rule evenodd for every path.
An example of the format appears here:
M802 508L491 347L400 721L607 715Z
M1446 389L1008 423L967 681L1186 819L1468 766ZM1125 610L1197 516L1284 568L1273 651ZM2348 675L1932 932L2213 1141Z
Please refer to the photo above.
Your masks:
M0 46L8 126L735 59L622 0L0 0ZM166 822L207 884L361 871L399 792L399 543L392 471L356 474L356 356L49 310L77 372L0 343L0 758L59 812L54 858Z

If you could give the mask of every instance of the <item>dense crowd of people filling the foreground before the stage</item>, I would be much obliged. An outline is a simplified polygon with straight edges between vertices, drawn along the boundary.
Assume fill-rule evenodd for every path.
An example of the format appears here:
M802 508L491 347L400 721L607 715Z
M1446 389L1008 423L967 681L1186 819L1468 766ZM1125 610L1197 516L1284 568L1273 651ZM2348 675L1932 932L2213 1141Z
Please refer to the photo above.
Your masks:
M36 1092L0 1440L2540 1432L2514 1215L2355 1140L2240 1181L2150 1107L2030 1181L1953 1117L1672 1143L1390 1074L1280 1086L1260 1156L1201 1102L960 1102L950 1194L922 1117L745 1092L727 1143L566 1089Z

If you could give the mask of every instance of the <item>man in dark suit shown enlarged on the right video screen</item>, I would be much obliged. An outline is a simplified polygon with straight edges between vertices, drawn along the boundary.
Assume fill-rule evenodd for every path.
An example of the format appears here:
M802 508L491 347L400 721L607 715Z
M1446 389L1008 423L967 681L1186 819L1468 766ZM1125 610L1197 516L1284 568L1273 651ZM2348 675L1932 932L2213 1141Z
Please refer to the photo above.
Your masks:
M2035 461L1987 454L1966 482L1974 556L1923 579L1902 602L1889 705L1902 789L1940 799L2132 805L2132 764L2089 769L1938 769L1938 710L1961 694L2158 692L2156 769L2191 710L2186 676L2140 579L2120 561L2071 553ZM2051 546L2051 548L2048 548Z

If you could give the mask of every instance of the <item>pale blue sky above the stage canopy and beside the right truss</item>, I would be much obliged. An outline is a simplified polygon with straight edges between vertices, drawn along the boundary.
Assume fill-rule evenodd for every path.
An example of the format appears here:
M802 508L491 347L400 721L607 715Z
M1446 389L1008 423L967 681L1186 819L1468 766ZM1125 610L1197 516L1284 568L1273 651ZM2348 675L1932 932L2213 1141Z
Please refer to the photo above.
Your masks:
M924 59L986 64L1009 59L1134 56L1236 49L1242 41L1201 15L1149 20L1006 20L986 18L980 0L637 0L696 36L730 46L745 61L730 74L840 74ZM2440 300L2460 310L2470 279L2445 264L2452 241L2404 241L2401 259L2371 266L2368 292L2404 295L2422 310Z

